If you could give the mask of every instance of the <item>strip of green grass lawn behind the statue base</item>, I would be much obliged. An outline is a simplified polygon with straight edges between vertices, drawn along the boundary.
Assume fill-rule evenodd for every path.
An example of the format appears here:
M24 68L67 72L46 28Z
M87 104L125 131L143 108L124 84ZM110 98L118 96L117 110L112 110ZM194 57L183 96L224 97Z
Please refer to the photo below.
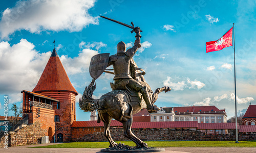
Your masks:
M145 141L151 147L256 147L256 141ZM119 143L119 141L116 141ZM132 141L123 141L126 145L134 146ZM34 148L107 148L109 142L71 142Z

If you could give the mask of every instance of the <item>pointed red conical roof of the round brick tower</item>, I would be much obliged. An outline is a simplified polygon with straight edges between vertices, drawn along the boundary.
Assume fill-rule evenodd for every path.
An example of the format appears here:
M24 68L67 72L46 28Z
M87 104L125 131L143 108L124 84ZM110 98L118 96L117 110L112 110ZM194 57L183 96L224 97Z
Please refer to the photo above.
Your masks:
M42 72L41 78L32 92L58 90L58 91L72 91L78 95L76 89L72 86L69 77L62 66L60 59L56 53L55 48L52 55Z

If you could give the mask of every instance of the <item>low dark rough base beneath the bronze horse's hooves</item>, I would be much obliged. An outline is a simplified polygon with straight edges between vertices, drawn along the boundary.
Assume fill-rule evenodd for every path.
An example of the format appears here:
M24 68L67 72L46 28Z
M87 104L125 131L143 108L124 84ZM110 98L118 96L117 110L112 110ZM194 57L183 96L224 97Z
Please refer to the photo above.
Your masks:
M137 148L136 146L129 146L125 144L119 143L115 147L111 148L105 148L101 149L101 152L115 152L115 153L121 153L121 152L161 152L165 151L164 148L155 148L155 147L143 147L143 148Z

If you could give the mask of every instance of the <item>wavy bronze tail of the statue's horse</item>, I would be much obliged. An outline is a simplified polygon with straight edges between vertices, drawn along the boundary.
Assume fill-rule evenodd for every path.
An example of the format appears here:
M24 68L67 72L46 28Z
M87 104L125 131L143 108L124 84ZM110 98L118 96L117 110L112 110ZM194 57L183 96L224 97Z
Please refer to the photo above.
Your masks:
M94 99L93 96L93 91L96 89L96 84L95 79L91 81L91 83L84 89L83 94L82 94L82 99L79 98L79 107L81 110L84 112L91 112L95 111L97 109L97 102L98 99Z

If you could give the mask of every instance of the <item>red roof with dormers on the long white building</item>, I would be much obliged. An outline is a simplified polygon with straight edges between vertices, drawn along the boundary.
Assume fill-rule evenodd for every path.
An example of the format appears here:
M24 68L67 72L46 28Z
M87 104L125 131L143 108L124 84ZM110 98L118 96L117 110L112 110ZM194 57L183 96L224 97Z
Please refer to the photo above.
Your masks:
M184 113L184 112L208 112L208 111L217 111L220 110L215 106L187 106L187 107L174 107L174 112L176 113Z

